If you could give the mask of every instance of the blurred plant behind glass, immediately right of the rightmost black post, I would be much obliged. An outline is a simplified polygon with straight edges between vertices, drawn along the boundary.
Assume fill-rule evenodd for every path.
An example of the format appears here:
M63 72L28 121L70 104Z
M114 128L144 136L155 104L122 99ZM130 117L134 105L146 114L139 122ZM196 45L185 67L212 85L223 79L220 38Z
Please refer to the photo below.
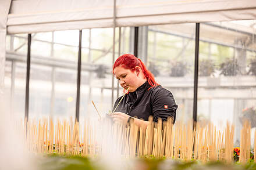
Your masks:
M210 59L200 60L198 72L199 72L199 75L201 76L213 75L215 72L214 62Z

